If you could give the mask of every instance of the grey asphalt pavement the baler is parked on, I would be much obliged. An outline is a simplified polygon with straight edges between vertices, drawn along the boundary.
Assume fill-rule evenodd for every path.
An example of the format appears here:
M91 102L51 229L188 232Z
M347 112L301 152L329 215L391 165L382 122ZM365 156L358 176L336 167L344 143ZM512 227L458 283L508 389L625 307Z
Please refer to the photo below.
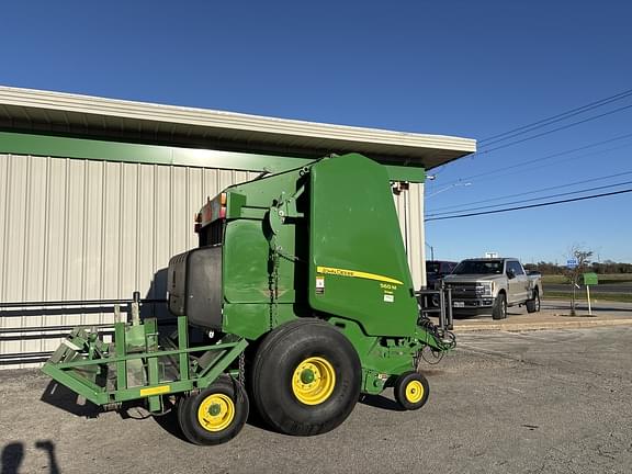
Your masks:
M326 435L251 421L213 448L182 440L169 416L100 414L38 372L1 371L1 472L630 472L632 327L460 332L458 342L420 365L431 392L420 410L400 411L387 391Z

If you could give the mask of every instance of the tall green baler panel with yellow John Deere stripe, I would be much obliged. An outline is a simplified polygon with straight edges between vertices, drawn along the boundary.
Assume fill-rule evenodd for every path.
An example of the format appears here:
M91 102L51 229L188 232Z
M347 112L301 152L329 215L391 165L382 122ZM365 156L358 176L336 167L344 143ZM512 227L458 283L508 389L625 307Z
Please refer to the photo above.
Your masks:
M371 336L411 336L417 301L386 169L356 154L323 160L309 193L309 305Z

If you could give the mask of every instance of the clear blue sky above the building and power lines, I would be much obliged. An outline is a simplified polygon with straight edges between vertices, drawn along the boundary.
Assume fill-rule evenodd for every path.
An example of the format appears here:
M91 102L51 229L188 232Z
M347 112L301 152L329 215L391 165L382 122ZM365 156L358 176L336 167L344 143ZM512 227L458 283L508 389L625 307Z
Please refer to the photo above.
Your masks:
M289 119L484 139L632 89L625 1L24 0L1 18L1 84ZM631 125L632 108L436 170L428 214L546 188L560 189L506 201L630 189L612 184L632 173L601 178L632 171L632 137L503 169ZM441 259L498 251L564 262L578 245L632 262L631 207L627 193L435 221L427 241Z

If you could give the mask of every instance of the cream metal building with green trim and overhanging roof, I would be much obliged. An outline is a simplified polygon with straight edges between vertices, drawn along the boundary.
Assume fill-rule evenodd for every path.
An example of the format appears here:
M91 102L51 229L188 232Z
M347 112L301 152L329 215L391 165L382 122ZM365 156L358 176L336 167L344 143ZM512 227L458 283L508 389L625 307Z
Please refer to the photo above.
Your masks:
M169 258L224 188L330 154L387 163L414 282L425 284L425 171L466 138L318 124L0 87L0 304L165 293ZM362 183L350 183L362 185ZM157 308L156 311L160 311ZM40 362L112 307L0 307L0 368Z

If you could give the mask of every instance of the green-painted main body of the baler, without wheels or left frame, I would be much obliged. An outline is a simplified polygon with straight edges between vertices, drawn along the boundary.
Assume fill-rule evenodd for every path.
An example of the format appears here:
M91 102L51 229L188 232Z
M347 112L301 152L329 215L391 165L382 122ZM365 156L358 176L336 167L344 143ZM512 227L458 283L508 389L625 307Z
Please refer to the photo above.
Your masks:
M358 351L366 393L413 370L424 346L442 350L417 326L390 182L385 167L352 154L228 188L223 331L253 340L325 318Z

